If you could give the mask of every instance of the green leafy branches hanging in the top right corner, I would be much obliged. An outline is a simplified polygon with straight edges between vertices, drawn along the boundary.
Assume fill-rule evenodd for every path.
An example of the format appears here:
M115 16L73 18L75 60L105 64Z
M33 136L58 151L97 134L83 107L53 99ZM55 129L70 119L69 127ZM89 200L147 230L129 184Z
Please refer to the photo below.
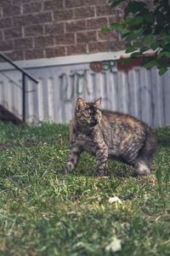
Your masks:
M167 0L154 0L151 6L147 1L110 0L111 8L126 3L123 20L113 23L111 27L121 29L122 38L126 41L126 52L132 59L143 56L148 50L153 55L145 55L141 66L157 67L162 75L170 67L170 4Z

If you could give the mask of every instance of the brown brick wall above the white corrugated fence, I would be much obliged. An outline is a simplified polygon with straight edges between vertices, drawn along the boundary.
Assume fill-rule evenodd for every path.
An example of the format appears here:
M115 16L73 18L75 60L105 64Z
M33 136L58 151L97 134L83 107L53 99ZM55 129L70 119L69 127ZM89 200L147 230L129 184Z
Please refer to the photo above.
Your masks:
M116 21L108 2L0 0L0 51L20 61L124 49L116 31L101 32Z

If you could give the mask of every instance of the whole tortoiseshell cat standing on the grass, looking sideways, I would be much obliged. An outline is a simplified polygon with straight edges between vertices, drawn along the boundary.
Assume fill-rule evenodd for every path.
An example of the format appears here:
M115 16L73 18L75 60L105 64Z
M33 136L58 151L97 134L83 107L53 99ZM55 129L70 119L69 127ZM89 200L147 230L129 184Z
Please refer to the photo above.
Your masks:
M156 137L148 125L125 113L100 110L96 102L77 99L70 125L70 153L64 174L73 172L82 151L96 157L96 174L105 174L108 159L134 167L135 175L149 175Z

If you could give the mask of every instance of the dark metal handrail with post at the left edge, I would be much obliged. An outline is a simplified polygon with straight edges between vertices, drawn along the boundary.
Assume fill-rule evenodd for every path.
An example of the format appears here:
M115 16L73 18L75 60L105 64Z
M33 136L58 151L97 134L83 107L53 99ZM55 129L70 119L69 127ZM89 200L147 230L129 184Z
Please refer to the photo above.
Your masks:
M37 79L34 79L31 76L31 74L27 73L26 70L16 65L14 61L11 61L6 55L3 55L2 53L0 53L0 57L2 57L4 61L7 61L22 73L22 121L23 123L26 123L26 77L31 79L33 82L37 84L38 84L38 81Z

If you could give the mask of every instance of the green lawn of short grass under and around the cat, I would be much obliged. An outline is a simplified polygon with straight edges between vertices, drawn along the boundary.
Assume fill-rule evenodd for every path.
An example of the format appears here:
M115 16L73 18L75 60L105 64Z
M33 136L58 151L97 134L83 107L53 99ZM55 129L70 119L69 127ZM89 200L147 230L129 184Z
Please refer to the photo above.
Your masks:
M159 148L149 177L109 161L94 177L82 154L63 176L68 125L0 123L0 255L170 254L170 128L156 129ZM122 204L110 203L118 196ZM107 251L113 237L122 247Z

